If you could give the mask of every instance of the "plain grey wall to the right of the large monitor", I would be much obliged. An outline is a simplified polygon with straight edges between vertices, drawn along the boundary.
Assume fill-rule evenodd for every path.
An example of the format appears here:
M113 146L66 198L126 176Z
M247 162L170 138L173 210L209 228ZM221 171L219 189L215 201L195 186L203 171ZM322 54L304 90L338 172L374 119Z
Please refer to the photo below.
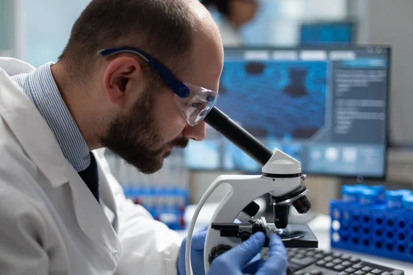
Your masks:
M392 46L390 145L413 144L413 1L352 0L361 43Z

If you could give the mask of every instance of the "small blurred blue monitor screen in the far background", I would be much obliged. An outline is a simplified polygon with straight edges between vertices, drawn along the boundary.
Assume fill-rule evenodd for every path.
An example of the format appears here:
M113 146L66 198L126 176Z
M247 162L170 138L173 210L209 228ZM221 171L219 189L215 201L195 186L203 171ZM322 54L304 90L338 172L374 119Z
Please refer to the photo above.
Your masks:
M300 26L299 44L349 45L354 40L354 23L350 21L304 23Z

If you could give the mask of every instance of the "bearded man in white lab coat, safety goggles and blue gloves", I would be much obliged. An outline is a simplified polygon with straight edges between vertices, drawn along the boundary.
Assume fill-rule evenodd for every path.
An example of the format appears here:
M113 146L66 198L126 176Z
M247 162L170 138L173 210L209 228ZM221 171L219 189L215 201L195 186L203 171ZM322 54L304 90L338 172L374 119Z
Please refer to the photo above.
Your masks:
M96 150L155 173L174 147L203 140L222 63L198 0L93 0L57 63L0 58L0 273L184 275L186 240L126 199ZM195 274L205 230L191 240ZM264 241L254 234L209 274L242 274ZM254 263L250 274L285 274L277 235Z

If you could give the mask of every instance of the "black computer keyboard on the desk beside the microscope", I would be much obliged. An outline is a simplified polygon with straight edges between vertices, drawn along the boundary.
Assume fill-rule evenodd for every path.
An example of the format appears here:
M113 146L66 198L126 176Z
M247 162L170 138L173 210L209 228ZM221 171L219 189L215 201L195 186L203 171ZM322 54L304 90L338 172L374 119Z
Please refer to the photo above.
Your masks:
M376 265L338 252L315 248L287 248L288 267L293 275L404 275L402 270ZM268 259L268 250L261 253Z

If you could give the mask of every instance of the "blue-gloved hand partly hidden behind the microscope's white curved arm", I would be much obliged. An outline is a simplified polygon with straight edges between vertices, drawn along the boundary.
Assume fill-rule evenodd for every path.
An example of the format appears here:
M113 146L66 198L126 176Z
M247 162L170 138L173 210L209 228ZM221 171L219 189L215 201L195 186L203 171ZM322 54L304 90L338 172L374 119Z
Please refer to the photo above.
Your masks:
M207 238L208 225L193 233L191 243L191 264L193 275L205 275L204 271L204 245ZM185 272L185 246L187 237L182 241L178 256L178 274L186 275Z

